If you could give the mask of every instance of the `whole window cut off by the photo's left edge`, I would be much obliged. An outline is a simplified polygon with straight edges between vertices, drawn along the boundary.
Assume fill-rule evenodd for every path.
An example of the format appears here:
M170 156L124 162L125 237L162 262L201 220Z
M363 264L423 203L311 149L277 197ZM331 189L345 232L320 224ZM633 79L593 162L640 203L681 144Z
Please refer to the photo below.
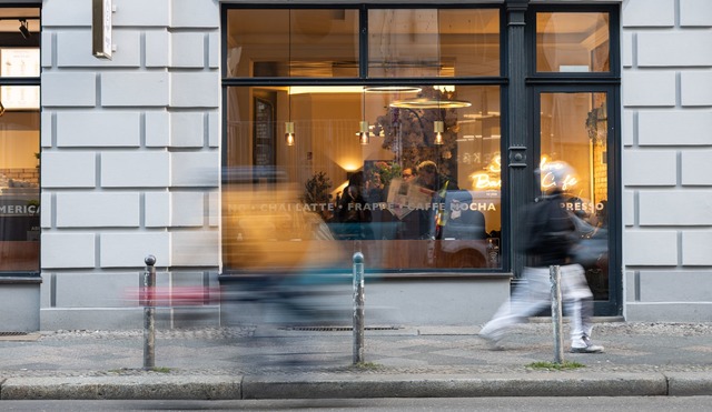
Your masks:
M39 9L0 8L0 272L4 273L39 271Z

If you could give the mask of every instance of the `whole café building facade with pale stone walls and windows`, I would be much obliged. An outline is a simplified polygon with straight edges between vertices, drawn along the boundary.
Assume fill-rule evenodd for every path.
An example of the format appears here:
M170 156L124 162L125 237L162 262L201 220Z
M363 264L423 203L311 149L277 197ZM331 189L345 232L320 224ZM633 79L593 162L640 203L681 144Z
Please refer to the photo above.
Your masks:
M552 160L607 250L596 314L712 320L710 1L0 1L0 24L8 330L138 328L148 255L159 287L211 291L348 278L355 251L367 322L483 323L531 263L517 211ZM337 199L362 174L355 234Z

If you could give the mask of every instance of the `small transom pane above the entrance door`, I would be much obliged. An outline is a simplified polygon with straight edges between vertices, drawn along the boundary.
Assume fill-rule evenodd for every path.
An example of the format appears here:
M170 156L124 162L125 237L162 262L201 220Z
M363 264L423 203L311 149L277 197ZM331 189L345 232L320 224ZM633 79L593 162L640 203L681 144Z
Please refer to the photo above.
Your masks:
M610 71L610 31L609 13L537 13L536 71Z

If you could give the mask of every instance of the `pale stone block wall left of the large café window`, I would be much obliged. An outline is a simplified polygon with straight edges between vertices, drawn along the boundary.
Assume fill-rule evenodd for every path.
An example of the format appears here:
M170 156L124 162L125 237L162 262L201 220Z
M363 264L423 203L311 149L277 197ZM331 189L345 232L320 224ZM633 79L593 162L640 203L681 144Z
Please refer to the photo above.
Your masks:
M216 282L218 1L113 6L101 60L91 0L42 2L42 329L140 328L149 254L159 284Z

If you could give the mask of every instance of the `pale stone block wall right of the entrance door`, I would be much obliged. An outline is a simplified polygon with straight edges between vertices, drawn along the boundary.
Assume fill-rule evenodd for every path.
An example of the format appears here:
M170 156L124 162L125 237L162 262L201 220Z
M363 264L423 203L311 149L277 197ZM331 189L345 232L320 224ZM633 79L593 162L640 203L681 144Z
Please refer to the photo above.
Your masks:
M622 3L624 314L712 320L712 1Z

